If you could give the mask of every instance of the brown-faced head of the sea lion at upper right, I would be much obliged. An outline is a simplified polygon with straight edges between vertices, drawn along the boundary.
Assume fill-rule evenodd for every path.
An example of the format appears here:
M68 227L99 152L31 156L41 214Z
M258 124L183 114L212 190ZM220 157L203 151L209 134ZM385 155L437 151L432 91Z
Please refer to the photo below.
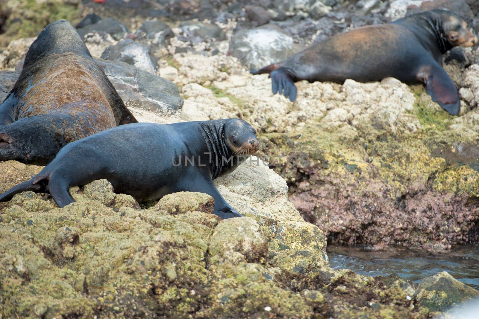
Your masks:
M468 23L451 11L440 10L443 38L453 46L473 46L478 43Z

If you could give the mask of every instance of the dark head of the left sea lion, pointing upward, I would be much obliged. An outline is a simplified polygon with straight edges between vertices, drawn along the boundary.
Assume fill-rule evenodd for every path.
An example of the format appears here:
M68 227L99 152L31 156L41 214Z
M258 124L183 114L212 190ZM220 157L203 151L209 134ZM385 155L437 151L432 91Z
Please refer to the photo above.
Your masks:
M60 53L74 52L91 57L77 30L67 20L48 24L40 31L25 56L23 67L39 59Z

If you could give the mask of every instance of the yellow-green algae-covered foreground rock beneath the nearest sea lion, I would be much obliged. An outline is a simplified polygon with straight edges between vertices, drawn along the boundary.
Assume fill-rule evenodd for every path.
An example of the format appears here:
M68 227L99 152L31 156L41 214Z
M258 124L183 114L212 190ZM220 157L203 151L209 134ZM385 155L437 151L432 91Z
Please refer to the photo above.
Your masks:
M201 193L171 194L141 209L105 180L71 188L77 202L63 209L48 195L15 195L0 208L0 313L427 318L404 281L388 286L328 268L322 231L301 219L281 177L252 162L215 181L247 216L237 219L213 215L212 198ZM16 162L0 168L2 191L40 170Z

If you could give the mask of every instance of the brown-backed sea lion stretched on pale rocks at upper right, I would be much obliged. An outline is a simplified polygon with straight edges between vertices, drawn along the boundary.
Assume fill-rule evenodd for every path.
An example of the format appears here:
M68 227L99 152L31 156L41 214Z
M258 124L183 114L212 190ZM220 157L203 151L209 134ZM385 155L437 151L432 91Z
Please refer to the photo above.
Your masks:
M395 77L407 84L422 82L433 101L456 115L459 94L442 67L442 55L454 46L476 43L467 23L455 13L426 11L337 34L251 73L270 73L273 93L291 101L297 94L294 82L300 80L343 83L348 78L368 82Z

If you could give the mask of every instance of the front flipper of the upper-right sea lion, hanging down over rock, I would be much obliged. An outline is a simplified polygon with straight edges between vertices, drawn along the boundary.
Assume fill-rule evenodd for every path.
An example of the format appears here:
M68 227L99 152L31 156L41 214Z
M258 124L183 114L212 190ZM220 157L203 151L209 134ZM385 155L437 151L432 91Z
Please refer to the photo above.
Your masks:
M457 115L461 108L461 99L456 85L442 66L433 65L423 67L417 75L426 85L426 92L434 102L451 115Z

